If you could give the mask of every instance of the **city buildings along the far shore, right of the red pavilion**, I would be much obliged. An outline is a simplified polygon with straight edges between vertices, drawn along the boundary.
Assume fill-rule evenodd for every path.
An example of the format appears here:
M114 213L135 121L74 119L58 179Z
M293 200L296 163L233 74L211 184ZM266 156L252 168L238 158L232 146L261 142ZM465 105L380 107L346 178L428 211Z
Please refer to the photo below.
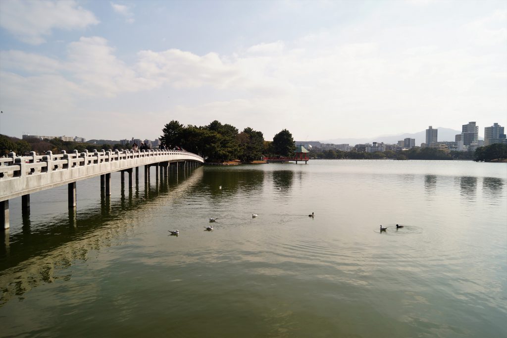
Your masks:
M296 141L297 145L302 144L307 148L316 148L321 150L341 150L358 152L382 152L386 150L399 151L414 148L415 139L406 138L395 144L385 144L383 142L372 142L366 144L333 144L320 143L319 141ZM479 126L476 122L468 122L461 127L461 133L457 134L454 141L438 141L438 129L429 126L426 129L426 142L421 143L421 148L438 148L445 151L475 151L478 147L489 146L495 143L507 144L504 129L498 123L491 127L484 128L484 140L479 140Z

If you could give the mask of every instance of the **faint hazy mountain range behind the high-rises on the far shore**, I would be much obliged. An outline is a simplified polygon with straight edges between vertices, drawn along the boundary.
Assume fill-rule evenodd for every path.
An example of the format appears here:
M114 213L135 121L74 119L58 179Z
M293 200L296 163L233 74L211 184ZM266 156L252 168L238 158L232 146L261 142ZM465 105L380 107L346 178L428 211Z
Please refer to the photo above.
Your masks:
M456 134L460 134L461 130L455 130L450 128L438 127L438 141L454 141ZM351 146L361 143L372 143L372 142L384 142L388 144L397 143L400 140L411 138L415 139L415 145L420 146L421 143L426 142L426 130L415 132L415 133L404 133L399 135L382 135L374 138L363 138L363 139L332 139L332 140L321 140L320 143L334 143L344 144L348 143ZM483 138L479 137L480 140Z

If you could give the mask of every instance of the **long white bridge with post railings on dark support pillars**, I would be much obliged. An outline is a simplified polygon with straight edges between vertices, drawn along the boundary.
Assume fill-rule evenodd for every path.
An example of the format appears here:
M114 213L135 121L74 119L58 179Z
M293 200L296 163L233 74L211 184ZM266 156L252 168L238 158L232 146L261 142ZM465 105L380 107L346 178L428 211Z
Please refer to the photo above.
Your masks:
M150 179L150 166L156 167L156 178L167 176L170 170L178 171L179 166L185 169L204 163L196 154L181 150L109 150L100 152L84 151L78 153L53 154L0 158L0 230L9 228L9 199L22 197L22 210L30 208L30 194L68 185L68 206L76 207L76 182L100 176L100 188L106 195L111 195L111 173L128 174L129 188L132 188L132 174L135 168L136 181L139 177L139 166L144 166L144 180Z

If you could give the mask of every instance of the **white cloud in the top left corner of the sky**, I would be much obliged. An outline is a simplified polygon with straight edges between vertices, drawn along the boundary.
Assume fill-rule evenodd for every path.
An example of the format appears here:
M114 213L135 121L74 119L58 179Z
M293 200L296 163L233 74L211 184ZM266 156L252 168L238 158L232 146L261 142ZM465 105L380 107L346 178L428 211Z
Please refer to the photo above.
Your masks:
M75 1L3 1L0 26L19 40L40 45L53 29L85 28L99 21Z

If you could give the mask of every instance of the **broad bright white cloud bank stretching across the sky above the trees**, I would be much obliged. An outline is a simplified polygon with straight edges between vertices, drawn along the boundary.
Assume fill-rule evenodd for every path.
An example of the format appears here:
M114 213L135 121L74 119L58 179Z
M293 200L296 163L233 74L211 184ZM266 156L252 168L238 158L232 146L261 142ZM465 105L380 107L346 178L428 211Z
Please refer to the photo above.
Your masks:
M360 137L376 130L481 123L477 115L502 124L496 117L507 111L506 48L493 44L484 52L487 39L480 37L504 41L504 18L495 12L466 26L449 25L430 39L425 27L377 32L351 25L341 35L319 28L293 41L275 38L227 55L141 50L128 63L106 39L83 37L67 45L62 59L2 52L2 85L10 89L1 94L3 104L20 111L36 110L32 103L38 100L41 111L49 110L65 96L54 110L93 110L105 123L135 118L142 110L153 124L176 118L202 125L217 118L262 130L267 138L281 127L296 138ZM466 35L471 32L477 35ZM169 100L166 91L177 95Z

